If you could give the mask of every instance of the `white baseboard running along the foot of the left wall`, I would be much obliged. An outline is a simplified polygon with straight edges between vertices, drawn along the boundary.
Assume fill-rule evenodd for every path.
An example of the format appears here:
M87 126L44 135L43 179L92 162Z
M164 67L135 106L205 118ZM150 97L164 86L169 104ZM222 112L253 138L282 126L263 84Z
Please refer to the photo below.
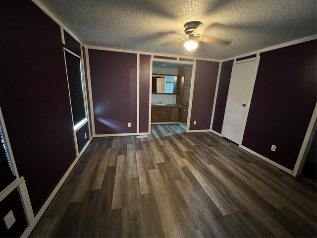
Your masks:
M64 176L59 180L59 182L57 183L56 187L54 188L53 192L51 193L51 195L49 196L49 198L46 200L46 202L43 204L43 206L41 207L40 211L38 212L38 214L36 214L35 219L34 219L34 223L31 224L29 227L27 227L25 229L25 231L23 232L23 234L21 235L21 237L28 237L32 230L34 229L34 227L36 226L36 224L39 222L40 218L43 216L44 212L46 211L46 209L49 207L50 203L52 202L54 196L56 195L56 193L58 192L58 190L60 189L61 185L63 185L64 181L67 179L67 177L69 176L70 172L73 170L73 168L75 167L76 163L78 162L79 158L82 156L82 154L84 153L84 151L87 149L88 145L90 144L92 138L86 143L86 145L84 146L84 148L81 150L81 152L79 153L79 155L76 157L76 159L74 160L74 162L70 165L70 167L68 168L68 170L66 171L66 173L64 174Z

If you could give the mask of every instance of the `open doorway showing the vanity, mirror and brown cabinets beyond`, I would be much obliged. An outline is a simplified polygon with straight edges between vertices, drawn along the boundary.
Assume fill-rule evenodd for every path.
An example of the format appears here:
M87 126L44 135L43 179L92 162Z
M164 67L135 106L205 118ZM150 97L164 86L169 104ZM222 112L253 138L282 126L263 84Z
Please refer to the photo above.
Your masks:
M181 124L189 130L195 62L152 59L151 124Z

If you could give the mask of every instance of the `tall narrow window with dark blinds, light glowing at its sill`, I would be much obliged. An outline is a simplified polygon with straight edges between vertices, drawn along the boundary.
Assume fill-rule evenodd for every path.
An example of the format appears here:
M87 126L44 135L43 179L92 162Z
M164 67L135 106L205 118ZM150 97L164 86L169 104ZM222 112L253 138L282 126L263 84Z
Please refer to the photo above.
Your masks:
M74 130L76 130L87 120L81 59L66 49L64 53Z

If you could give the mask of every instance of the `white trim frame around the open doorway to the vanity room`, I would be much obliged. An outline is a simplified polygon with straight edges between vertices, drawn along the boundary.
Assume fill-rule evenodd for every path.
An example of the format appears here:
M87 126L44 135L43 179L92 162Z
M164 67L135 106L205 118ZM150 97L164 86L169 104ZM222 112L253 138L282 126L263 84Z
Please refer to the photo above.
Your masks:
M177 58L178 59L178 58ZM151 106L152 106L152 72L153 72L153 62L171 62L171 63L181 63L181 64L191 64L192 65L192 80L190 87L190 95L189 95L189 104L188 104L188 114L187 114L187 124L186 124L186 132L189 132L190 126L190 116L192 113L192 103L193 103L193 94L194 94L194 84L195 84L195 72L196 72L196 60L194 61L181 61L181 60L165 60L151 57L151 67L150 67L150 88L149 88L149 134L151 134ZM179 79L177 78L177 83ZM174 122L176 123L176 121Z

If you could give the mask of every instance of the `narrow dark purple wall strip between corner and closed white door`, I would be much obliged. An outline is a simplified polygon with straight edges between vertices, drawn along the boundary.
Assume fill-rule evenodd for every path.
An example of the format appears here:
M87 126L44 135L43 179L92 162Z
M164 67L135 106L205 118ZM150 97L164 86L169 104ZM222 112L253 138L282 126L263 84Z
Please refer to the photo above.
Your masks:
M221 134L224 112L226 110L233 60L222 62L218 93L214 108L212 130Z

